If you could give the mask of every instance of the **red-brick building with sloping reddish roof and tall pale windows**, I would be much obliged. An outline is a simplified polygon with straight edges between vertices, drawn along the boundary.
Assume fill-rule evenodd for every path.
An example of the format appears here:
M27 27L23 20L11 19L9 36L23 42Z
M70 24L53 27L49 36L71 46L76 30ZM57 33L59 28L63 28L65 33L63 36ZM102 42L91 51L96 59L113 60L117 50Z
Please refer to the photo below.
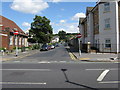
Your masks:
M18 38L14 35L15 30L19 32ZM27 35L15 22L0 16L0 48L12 50L16 45L18 47L27 47Z

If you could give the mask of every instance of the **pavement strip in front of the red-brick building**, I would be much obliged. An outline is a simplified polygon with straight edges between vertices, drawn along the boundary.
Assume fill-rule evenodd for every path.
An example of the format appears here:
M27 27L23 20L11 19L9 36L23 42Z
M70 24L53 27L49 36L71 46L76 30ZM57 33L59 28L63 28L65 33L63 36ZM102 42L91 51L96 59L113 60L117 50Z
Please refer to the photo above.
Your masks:
M28 50L25 52L19 52L17 57L15 56L15 52L10 54L5 54L5 55L2 55L2 53L0 53L0 58L1 58L1 61L15 60L15 59L24 58L26 56L33 55L38 52L40 52L40 50Z

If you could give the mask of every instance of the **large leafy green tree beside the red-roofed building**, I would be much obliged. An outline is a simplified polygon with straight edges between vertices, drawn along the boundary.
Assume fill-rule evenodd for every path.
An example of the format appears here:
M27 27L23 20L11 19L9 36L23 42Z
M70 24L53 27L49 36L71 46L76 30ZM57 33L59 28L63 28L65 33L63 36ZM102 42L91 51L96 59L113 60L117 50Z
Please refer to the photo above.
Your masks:
M36 43L49 43L53 34L50 20L45 16L41 17L37 15L33 20L29 31L29 34L32 36L31 40L36 41Z

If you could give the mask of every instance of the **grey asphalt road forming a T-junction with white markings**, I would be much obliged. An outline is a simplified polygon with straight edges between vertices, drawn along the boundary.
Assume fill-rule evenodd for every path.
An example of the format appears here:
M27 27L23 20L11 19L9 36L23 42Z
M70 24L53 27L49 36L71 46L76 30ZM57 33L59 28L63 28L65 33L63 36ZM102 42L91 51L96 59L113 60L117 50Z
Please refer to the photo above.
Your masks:
M1 71L3 88L100 90L98 88L118 88L120 83L118 63L75 61L62 45L50 51L3 62Z

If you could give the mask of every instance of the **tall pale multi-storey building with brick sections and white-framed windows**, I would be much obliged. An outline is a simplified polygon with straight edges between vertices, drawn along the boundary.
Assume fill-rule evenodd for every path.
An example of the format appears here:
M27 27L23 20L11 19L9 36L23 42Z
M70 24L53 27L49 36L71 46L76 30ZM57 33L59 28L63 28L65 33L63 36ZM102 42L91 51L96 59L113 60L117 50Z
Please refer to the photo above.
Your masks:
M97 48L100 52L119 53L120 1L101 2L99 0L95 7L90 7L86 12L86 18L79 23L79 30L83 36L82 43L90 42L91 47ZM85 21L87 22L87 30L84 28Z

